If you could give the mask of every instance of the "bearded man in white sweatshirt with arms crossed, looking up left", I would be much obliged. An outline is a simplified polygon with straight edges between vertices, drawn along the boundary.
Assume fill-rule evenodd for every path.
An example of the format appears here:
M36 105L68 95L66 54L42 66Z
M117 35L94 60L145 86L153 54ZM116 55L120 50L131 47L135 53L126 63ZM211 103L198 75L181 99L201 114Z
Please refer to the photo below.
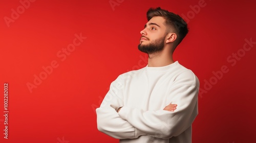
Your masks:
M199 80L173 60L187 24L161 8L149 9L147 19L138 49L148 54L148 64L111 83L96 109L98 130L122 143L191 142Z

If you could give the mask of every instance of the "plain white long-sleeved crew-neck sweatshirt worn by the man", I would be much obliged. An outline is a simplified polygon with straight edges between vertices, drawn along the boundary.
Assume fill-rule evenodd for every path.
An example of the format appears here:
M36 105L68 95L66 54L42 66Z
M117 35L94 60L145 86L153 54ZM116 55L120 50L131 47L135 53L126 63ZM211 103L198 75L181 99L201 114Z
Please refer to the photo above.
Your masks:
M111 83L96 109L98 130L121 143L189 143L198 91L198 78L178 61L129 71ZM163 110L170 103L177 109Z

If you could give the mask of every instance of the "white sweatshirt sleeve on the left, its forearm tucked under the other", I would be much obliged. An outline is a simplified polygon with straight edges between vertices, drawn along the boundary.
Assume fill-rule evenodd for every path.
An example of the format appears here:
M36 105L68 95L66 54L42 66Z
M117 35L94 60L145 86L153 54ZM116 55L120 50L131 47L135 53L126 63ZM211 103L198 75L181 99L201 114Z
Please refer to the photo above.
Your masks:
M111 83L110 90L96 109L97 128L99 131L114 138L138 138L145 133L139 131L126 120L123 120L117 110L123 106L123 81L119 76Z

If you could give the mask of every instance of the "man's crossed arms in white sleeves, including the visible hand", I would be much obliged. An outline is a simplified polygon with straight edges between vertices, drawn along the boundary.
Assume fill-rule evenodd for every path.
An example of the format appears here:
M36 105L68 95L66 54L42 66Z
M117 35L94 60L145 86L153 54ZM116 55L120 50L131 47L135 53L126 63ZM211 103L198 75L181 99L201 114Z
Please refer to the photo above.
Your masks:
M190 127L198 114L198 88L195 85L177 84L170 89L167 98L169 103L175 104L161 110L143 111L123 105L122 83L120 76L112 82L109 92L96 109L98 130L114 138L138 138L141 135L171 138Z

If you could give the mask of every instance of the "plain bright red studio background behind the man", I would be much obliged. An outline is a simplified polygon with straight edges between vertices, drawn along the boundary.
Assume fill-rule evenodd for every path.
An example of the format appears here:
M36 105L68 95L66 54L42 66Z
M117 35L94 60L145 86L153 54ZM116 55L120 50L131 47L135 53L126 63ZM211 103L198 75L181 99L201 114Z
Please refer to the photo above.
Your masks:
M97 130L95 109L118 75L145 66L140 31L147 9L158 6L188 17L190 31L174 59L200 80L193 142L256 142L256 44L243 50L245 39L256 41L255 1L205 0L200 10L202 0L111 2L118 5L37 0L24 11L18 0L0 2L2 91L9 84L9 139L2 92L0 142L118 142ZM5 17L18 7L18 18L8 24ZM80 33L87 39L61 61L57 53ZM242 56L232 58L237 52ZM30 92L27 83L54 60L58 67ZM215 78L212 72L223 65L228 72Z

